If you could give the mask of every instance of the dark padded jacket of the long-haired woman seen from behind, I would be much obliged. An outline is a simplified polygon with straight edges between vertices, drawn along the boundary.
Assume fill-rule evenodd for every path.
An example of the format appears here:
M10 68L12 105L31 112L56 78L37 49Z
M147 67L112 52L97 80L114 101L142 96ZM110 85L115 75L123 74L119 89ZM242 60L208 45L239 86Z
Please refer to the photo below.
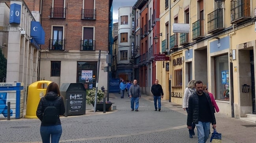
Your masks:
M55 102L56 101L56 102ZM48 106L48 103L54 103L54 106L59 110L59 115L64 115L65 113L65 105L64 105L64 100L62 96L58 96L55 92L48 92L44 97L42 97L39 101L39 104L37 106L37 118L40 119L40 121L43 120L43 112L45 108ZM41 126L53 126L53 125L60 125L61 121L58 118L57 122L55 124L46 124L41 122Z

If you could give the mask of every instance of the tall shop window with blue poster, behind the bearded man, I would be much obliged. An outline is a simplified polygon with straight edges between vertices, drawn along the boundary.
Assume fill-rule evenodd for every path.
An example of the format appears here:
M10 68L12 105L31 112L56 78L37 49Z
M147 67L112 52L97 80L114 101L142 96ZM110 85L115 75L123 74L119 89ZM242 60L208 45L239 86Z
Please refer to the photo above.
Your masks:
M228 54L215 57L215 73L215 84L217 87L215 99L229 100Z

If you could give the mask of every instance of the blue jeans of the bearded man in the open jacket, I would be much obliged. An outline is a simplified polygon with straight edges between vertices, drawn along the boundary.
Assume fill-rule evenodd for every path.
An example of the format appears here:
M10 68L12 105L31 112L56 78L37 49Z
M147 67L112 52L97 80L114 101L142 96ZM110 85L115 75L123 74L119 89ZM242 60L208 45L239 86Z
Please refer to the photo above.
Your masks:
M198 143L206 143L209 138L210 122L200 122L195 124L197 127Z

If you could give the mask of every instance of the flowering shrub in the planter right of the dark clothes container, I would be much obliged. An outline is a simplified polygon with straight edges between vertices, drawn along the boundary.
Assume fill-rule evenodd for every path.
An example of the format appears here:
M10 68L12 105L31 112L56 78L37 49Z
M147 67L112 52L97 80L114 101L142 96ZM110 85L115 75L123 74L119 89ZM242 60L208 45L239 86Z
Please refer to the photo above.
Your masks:
M95 101L95 93L96 93L96 88L93 87L93 89L89 89L86 91L86 103L87 104L94 104ZM97 92L97 103L100 103L100 101L104 98L105 94L102 90L98 89Z

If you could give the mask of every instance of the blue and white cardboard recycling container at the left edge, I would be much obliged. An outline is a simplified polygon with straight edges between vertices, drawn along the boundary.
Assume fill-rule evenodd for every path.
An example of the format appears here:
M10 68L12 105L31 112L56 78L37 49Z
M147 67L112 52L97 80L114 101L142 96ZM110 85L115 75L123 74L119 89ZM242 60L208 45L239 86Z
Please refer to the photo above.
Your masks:
M10 118L23 117L24 110L24 83L0 83L0 119L7 119L7 103L10 102Z

